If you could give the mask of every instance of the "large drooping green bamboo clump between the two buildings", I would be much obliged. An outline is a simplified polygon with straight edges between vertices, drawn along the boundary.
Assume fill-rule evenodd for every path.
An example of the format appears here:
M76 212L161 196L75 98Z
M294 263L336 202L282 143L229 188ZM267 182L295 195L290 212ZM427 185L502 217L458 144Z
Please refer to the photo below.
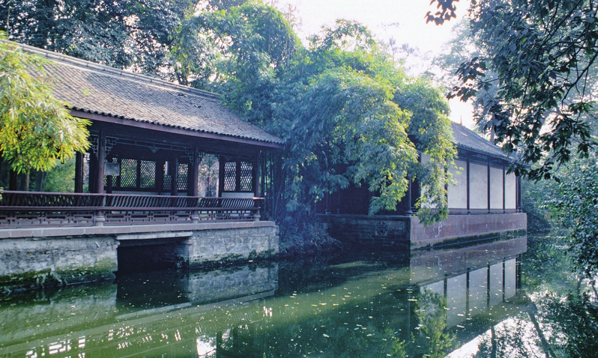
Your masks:
M426 188L422 221L446 216L443 168L455 155L446 101L396 67L365 26L338 20L304 48L282 14L260 2L194 21L219 52L212 88L287 144L272 166L284 174L269 181L269 195L284 196L279 222L301 226L313 203L349 184L374 193L371 214L394 210L409 174ZM417 161L412 138L431 162Z

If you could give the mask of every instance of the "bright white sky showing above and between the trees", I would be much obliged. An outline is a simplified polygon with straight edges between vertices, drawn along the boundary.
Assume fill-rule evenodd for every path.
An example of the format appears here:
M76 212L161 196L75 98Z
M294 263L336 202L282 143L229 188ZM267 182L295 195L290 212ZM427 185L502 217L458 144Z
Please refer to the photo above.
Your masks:
M282 11L288 6L296 8L295 16L301 24L297 30L301 40L317 33L322 26L333 26L337 18L359 21L365 24L380 41L388 43L395 39L397 45L408 44L419 49L419 58L407 59L409 72L416 75L429 67L429 59L446 51L444 44L452 38L451 29L456 20L441 26L426 24L428 11L435 12L429 0L270 0ZM457 3L457 18L466 14L468 2ZM423 59L422 59L423 58ZM428 60L426 60L428 58ZM459 100L449 101L450 118L473 128L472 107Z

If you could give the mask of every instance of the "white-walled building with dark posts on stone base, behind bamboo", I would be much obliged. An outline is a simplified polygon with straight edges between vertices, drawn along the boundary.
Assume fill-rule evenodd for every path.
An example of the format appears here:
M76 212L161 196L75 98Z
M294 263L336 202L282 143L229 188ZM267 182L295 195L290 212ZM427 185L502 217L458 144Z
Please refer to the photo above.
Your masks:
M447 187L449 218L425 227L413 216L421 192L417 181L411 181L396 211L373 217L367 212L374 194L365 186L350 185L327 195L318 205L319 217L331 235L349 242L414 249L524 232L527 222L521 212L521 181L507 174L508 156L462 125L453 123L452 129L459 156L457 168L449 169L455 181ZM421 161L429 161L429 157L422 155Z

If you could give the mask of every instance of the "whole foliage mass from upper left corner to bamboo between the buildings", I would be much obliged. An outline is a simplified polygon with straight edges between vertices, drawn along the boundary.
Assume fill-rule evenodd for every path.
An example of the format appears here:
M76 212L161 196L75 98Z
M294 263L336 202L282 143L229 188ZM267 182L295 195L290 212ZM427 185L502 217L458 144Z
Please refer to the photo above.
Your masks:
M263 183L279 223L301 229L318 200L349 185L373 193L371 214L395 210L408 177L423 186L422 221L447 215L446 100L361 24L338 20L305 47L289 14L257 0L5 2L0 16L16 41L220 92L282 138Z

